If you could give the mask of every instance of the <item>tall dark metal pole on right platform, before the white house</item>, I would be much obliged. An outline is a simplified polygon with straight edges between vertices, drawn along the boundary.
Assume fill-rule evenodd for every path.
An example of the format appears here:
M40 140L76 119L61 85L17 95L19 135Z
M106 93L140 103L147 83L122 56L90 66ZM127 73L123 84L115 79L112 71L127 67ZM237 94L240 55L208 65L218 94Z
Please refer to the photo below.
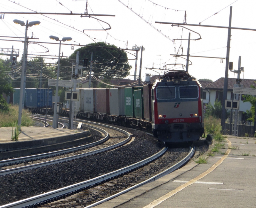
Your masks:
M232 20L232 6L230 6L230 12L229 12L226 70L225 70L223 99L222 99L221 126L223 131L225 130L225 119L226 119L225 101L227 99L227 94L228 94L228 64L229 64L229 51L230 51L230 40L231 40L231 20Z

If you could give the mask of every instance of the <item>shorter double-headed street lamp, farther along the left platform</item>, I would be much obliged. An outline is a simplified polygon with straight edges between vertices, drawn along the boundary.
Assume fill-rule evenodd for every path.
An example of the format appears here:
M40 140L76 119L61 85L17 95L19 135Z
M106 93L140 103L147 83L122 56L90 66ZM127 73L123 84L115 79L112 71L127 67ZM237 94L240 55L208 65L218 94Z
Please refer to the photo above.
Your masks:
M60 40L59 37L50 35L49 38L51 38L52 40L55 41L60 41L60 45L61 45L61 41L65 42L65 41L71 41L72 38L71 37L63 37L62 40ZM58 87L59 87L59 74L60 74L60 48L59 48L59 60L58 60L58 69L57 69L57 78L56 78L56 91L55 91L55 104L54 104L54 109L53 109L53 124L52 124L52 128L58 128L58 123L57 123L57 102L58 102Z

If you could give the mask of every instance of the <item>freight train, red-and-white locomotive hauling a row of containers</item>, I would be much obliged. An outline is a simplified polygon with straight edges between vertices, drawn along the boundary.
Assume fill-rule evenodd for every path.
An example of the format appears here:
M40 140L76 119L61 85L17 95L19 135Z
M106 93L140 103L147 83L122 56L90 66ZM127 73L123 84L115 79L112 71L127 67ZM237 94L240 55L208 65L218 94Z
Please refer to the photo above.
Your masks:
M50 94L52 102L52 91ZM27 106L31 96L27 93L25 97ZM44 107L39 110L36 106L34 112L42 113ZM143 87L79 89L76 109L76 117L81 119L144 129L163 142L191 142L204 137L203 89L186 71L168 71L154 84ZM69 109L63 109L62 115L69 116Z

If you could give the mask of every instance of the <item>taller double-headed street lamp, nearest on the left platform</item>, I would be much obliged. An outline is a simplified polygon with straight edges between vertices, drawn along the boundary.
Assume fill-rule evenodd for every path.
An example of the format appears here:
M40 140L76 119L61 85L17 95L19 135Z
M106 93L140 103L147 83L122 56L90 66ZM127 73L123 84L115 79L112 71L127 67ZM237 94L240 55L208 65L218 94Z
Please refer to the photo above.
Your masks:
M19 117L18 117L18 126L19 131L21 129L21 115L22 115L22 103L23 103L23 91L24 91L24 76L25 76L25 62L26 62L26 51L27 51L27 34L28 34L28 27L32 27L33 25L39 25L40 21L32 21L25 24L25 22L14 19L13 22L15 24L19 24L21 26L25 26L25 39L24 39L24 50L23 50L23 59L22 59L22 69L21 69L21 81L20 81L20 104L19 104Z

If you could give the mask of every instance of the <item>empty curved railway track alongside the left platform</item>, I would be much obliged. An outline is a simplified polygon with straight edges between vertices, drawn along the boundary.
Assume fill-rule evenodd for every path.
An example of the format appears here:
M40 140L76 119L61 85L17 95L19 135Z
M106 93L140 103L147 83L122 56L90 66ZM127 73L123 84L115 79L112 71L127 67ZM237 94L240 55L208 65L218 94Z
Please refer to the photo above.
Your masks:
M102 132L105 137L94 143L68 148L65 150L2 160L0 161L0 176L98 154L100 152L112 150L122 146L131 140L131 135L122 129L109 127L104 124L98 124L90 121L84 121L83 125L97 129L98 131ZM102 127L104 127L105 130L102 129ZM112 131L112 136L106 131L109 131L109 129ZM115 131L119 133L116 133ZM114 134L118 136L113 136Z

